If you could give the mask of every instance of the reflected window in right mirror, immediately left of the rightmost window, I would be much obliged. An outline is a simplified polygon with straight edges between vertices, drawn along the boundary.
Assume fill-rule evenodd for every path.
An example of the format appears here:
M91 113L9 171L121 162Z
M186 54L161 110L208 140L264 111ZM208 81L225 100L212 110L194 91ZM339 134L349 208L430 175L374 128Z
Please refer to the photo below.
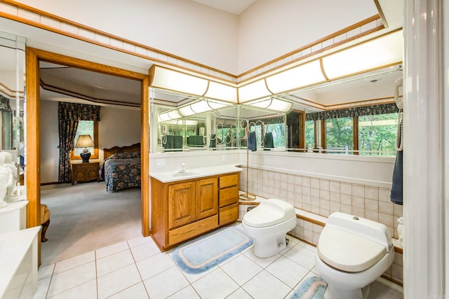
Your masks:
M326 149L328 153L344 153L354 148L352 118L329 118L326 120ZM335 152L334 152L335 153Z

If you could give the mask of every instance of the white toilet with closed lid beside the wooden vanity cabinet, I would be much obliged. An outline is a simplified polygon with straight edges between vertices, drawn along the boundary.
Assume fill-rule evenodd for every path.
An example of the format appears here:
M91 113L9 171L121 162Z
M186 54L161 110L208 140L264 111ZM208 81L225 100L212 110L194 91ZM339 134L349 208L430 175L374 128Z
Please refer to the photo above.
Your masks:
M254 255L268 258L286 248L286 234L296 226L295 207L271 198L243 216L243 230L254 238Z

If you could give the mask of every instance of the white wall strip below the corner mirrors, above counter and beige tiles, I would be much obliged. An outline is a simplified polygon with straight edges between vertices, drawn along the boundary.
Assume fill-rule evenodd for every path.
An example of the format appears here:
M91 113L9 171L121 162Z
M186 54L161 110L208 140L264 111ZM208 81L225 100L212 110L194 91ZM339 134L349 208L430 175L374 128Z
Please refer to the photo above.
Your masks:
M277 151L255 151L250 152L248 156L251 168L391 188L394 167L392 157ZM156 168L156 162L160 159L164 160L166 167ZM187 169L226 164L246 166L246 151L155 153L150 155L150 174L175 171L181 163L185 163Z

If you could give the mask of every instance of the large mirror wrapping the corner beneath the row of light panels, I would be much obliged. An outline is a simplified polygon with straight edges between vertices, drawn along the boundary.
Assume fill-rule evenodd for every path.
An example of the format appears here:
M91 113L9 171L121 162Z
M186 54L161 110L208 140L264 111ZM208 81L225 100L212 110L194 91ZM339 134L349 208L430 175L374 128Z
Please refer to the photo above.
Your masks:
M401 76L398 64L245 104L156 90L152 153L246 148L251 133L264 151L395 155Z

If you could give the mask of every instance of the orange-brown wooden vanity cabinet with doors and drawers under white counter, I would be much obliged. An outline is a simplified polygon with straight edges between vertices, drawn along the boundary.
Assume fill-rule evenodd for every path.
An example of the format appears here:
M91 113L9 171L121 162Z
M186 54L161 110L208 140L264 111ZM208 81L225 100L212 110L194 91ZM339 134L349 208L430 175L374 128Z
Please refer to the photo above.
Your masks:
M229 187L236 188L238 201L239 174L234 175L236 177L232 178L233 183ZM169 183L151 178L152 237L159 249L164 251L238 218L238 203L231 203L234 199L231 200L232 196L228 194L235 191L225 187L227 183L222 183L225 176L227 175ZM227 179L229 178L225 181ZM223 187L219 189L220 183ZM224 207L219 204L220 195L223 195L222 202L227 203ZM234 204L236 209L231 207Z

